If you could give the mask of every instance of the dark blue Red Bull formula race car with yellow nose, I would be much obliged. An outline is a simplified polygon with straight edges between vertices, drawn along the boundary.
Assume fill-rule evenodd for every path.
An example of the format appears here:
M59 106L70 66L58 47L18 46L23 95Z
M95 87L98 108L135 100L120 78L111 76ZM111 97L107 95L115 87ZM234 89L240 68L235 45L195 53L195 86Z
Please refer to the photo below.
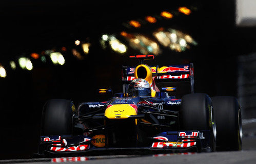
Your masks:
M102 102L51 99L42 114L40 156L241 150L240 105L234 97L193 91L193 64L148 66L130 56L123 92L98 89Z

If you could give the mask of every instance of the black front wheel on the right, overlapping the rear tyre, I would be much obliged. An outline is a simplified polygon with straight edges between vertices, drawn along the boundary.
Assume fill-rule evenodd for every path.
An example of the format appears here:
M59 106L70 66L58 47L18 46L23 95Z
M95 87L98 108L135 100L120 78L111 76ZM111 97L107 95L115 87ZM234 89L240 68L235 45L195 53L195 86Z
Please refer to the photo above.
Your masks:
M182 97L179 112L181 130L210 130L210 151L215 151L216 128L212 101L205 93L191 93Z

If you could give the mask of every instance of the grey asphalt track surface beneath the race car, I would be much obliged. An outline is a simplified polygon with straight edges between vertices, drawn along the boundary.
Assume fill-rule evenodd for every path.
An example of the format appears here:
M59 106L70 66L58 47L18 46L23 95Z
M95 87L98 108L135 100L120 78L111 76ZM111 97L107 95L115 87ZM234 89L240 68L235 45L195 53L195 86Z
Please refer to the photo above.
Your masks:
M0 163L256 163L256 119L243 120L243 150L212 153L178 153L155 155L110 155L62 158L0 160Z

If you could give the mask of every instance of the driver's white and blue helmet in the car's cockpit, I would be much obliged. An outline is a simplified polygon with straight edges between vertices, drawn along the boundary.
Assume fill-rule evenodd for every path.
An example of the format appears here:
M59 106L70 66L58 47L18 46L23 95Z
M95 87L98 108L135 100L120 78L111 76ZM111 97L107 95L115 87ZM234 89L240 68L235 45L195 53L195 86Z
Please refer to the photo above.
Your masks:
M151 96L150 84L144 79L134 79L129 84L128 95L130 97Z

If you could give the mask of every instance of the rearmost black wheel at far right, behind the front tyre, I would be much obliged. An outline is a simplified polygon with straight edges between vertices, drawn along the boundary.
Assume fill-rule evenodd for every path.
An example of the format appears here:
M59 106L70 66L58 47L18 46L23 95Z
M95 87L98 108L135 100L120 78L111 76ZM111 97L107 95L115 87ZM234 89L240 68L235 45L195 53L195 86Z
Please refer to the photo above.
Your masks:
M242 117L238 100L230 96L213 97L212 103L217 130L217 150L242 149Z

